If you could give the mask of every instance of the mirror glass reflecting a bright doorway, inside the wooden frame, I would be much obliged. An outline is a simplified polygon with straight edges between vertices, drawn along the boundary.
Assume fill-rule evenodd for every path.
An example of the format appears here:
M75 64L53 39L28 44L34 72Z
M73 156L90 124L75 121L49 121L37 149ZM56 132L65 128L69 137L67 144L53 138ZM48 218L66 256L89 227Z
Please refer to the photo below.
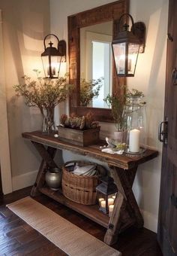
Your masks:
M80 29L80 80L102 79L101 87L100 84L92 87L93 92L98 90L98 93L93 96L87 107L109 108L103 99L109 93L112 94L112 40L113 21ZM80 84L80 94L83 93L82 91L83 83Z

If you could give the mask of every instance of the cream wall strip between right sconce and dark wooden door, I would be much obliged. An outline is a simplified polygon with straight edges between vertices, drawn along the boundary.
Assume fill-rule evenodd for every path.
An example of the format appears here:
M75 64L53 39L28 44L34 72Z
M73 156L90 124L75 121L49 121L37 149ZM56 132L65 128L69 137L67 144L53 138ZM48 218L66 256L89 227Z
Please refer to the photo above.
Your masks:
M168 1L130 2L134 20L142 20L147 29L145 53L139 55L136 76L128 79L130 87L145 93L147 102L148 145L156 148L160 156L139 166L133 186L134 193L145 215L145 226L156 231L160 192L162 145L157 140L158 125L163 120L166 74L166 34Z

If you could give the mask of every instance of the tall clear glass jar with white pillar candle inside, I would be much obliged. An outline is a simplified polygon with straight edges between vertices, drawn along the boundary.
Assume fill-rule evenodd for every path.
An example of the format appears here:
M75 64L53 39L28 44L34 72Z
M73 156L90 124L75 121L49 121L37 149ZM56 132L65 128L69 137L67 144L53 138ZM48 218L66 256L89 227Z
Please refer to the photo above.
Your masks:
M145 102L140 97L130 97L124 108L124 117L127 130L128 154L142 154L147 145L147 126Z

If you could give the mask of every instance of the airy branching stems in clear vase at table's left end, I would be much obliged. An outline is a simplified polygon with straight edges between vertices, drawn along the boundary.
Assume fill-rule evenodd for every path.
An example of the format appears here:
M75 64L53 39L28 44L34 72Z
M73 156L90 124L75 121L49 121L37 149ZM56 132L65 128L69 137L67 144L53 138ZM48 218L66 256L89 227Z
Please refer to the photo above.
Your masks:
M54 129L54 108L64 102L71 92L73 85L68 84L68 75L58 79L40 78L40 72L34 69L37 79L32 80L27 75L23 77L23 84L13 86L17 96L25 98L26 105L37 107L43 117L43 133Z

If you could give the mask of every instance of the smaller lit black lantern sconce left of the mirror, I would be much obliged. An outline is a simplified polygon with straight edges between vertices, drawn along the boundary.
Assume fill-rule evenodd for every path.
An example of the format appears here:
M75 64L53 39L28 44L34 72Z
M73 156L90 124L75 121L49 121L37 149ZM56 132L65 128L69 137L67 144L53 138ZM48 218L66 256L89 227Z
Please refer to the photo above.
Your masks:
M49 35L56 38L57 47L52 46L52 41L49 42L49 47L46 47L46 38ZM44 52L41 54L43 70L46 78L58 78L61 62L66 61L66 42L59 41L56 35L49 35L43 39Z

